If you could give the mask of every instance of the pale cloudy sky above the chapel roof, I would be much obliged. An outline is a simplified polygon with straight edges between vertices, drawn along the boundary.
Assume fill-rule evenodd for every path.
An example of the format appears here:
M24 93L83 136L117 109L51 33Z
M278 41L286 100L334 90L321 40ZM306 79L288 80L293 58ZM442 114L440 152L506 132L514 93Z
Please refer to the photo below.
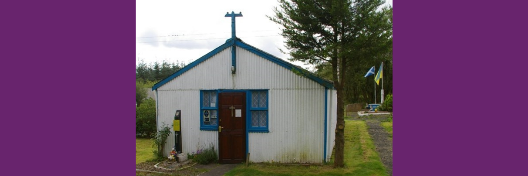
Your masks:
M386 2L392 5L392 0ZM188 64L231 38L229 12L236 17L237 37L242 41L287 60L280 25L274 16L276 0L264 1L145 1L136 0L136 65L139 61ZM303 62L291 62L312 70Z

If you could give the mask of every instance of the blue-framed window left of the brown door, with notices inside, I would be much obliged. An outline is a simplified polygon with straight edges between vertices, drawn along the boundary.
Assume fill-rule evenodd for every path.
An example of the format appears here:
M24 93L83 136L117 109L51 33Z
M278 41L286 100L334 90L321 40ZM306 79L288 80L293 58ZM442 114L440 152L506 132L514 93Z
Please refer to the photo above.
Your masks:
M218 130L218 96L216 91L200 92L200 129Z

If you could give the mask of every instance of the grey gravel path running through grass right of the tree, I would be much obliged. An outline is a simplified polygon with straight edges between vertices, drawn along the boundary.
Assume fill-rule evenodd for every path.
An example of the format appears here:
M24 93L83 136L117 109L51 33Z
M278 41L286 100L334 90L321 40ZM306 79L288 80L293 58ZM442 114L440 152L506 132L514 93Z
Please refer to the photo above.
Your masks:
M366 125L369 126L369 134L380 154L381 162L392 176L392 141L389 139L389 133L380 125L380 121L367 120Z

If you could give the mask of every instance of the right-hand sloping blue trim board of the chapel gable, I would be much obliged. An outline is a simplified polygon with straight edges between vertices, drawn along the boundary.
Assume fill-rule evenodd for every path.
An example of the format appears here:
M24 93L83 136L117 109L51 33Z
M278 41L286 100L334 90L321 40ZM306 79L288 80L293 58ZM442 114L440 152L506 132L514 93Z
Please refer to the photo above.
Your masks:
M303 73L307 73L306 77L309 78L309 79L312 79L314 80L315 82L317 82L318 84L326 87L326 88L334 88L334 84L332 84L332 82L330 81L327 81L323 78L319 78L317 77L316 75L314 75L312 72L309 72L305 69L302 69L302 68L298 68L297 66L295 66L294 64L291 64L285 60L282 60L282 59L279 59L277 57L275 57L274 55L271 55L265 51L262 51L262 50L259 50L247 43L244 43L242 41L239 41L239 40L235 40L235 45L237 45L238 47L240 48L243 48L243 49L246 49L254 54L257 54L258 56L262 57L262 58L265 58L265 59L268 59L269 61L271 62L274 62L274 63L277 63L279 64L279 66L282 66L288 70L296 70L296 71L299 71L299 72L303 72Z

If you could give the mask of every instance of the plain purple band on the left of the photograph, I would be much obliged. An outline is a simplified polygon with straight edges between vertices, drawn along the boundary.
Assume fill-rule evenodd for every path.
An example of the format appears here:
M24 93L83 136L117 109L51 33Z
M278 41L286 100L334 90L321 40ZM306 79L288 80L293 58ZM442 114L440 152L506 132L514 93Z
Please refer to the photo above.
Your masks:
M0 173L134 175L134 1L2 2L0 18Z

